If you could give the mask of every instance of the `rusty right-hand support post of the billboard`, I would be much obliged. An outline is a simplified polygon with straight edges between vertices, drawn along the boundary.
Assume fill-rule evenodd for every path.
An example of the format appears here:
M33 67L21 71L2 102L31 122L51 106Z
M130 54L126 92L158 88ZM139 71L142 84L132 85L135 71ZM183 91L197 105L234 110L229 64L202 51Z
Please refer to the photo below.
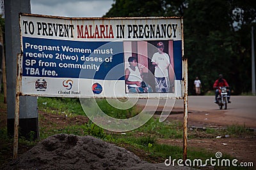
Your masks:
M184 117L183 117L183 161L187 159L188 147L188 59L184 59Z

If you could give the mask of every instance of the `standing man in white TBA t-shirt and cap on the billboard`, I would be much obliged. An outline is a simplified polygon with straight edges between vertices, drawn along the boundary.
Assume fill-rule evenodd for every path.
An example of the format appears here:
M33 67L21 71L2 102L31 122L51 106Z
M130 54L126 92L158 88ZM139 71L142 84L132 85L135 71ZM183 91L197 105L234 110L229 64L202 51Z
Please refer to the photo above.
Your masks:
M152 65L155 66L155 85L156 92L170 92L170 80L168 67L170 66L170 57L164 52L163 42L157 43L158 52L152 57Z

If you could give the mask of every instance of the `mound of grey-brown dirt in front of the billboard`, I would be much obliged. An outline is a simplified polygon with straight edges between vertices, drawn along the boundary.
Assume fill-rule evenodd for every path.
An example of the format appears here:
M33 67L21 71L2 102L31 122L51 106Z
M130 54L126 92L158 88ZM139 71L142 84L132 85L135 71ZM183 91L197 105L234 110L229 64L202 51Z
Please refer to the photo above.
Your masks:
M134 153L92 136L56 134L4 169L180 169L150 164Z

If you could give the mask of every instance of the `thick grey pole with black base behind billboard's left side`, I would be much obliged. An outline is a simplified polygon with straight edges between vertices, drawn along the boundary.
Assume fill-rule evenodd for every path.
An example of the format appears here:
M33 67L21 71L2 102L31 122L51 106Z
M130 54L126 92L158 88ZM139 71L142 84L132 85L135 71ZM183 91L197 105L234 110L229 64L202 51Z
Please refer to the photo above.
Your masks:
M6 83L7 83L7 132L13 136L15 124L15 87L17 76L17 53L20 50L19 13L31 13L30 0L4 0L6 37ZM20 96L19 135L26 139L39 139L37 99Z

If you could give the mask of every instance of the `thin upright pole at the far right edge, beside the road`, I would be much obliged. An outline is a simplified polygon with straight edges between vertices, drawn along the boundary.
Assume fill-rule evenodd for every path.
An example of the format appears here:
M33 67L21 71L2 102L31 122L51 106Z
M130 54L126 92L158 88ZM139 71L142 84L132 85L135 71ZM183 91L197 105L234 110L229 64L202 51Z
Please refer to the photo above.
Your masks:
M255 95L255 53L254 53L253 26L252 26L252 94Z

